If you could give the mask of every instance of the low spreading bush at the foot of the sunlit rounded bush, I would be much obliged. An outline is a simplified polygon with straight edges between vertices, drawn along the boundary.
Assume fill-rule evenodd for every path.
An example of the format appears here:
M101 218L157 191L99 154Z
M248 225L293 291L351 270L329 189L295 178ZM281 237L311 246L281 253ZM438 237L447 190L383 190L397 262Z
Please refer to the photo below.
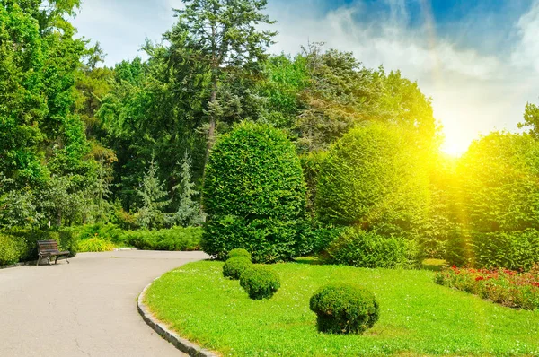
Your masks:
M332 264L347 266L415 267L420 265L420 257L419 249L414 246L413 240L347 228L330 244L323 257Z

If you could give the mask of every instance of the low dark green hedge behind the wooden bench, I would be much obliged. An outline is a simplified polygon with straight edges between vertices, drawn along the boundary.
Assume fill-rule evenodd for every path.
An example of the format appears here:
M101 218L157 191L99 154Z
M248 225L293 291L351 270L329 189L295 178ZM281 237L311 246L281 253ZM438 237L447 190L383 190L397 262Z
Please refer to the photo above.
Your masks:
M60 250L68 250L71 257L75 257L78 251L78 234L75 229L0 231L0 265L37 259L38 240L49 239L56 240Z

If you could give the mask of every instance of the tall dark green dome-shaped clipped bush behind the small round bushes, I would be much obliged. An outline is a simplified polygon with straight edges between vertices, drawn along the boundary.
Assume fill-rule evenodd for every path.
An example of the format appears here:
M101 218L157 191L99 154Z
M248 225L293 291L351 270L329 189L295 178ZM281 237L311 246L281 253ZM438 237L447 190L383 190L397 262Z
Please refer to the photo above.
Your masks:
M286 135L243 123L217 141L206 172L204 251L223 259L246 248L255 262L296 257L305 183Z

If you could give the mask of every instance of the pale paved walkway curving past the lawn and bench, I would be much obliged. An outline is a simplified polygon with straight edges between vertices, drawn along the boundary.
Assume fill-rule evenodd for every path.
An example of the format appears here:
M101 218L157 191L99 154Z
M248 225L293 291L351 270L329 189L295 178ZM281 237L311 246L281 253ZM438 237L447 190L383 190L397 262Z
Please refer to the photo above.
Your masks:
M200 252L81 253L0 270L0 356L181 356L137 312L155 277Z

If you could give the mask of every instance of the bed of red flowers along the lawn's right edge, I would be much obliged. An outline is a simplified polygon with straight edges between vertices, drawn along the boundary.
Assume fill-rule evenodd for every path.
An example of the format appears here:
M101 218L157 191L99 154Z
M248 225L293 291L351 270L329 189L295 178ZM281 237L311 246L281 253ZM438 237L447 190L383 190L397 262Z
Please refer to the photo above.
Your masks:
M539 309L539 264L527 273L452 266L435 275L435 282L515 309Z

